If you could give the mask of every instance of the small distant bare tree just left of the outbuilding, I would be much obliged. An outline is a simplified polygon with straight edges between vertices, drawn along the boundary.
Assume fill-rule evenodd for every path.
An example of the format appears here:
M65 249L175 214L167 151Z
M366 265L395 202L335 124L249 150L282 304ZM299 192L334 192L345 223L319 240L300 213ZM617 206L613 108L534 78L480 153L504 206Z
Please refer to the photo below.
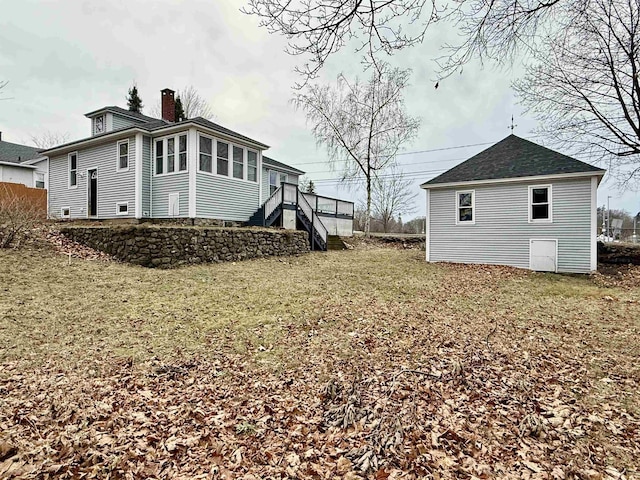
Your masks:
M371 205L374 216L380 220L382 231L387 233L394 217L415 212L417 193L411 191L411 181L406 180L397 167L373 182Z

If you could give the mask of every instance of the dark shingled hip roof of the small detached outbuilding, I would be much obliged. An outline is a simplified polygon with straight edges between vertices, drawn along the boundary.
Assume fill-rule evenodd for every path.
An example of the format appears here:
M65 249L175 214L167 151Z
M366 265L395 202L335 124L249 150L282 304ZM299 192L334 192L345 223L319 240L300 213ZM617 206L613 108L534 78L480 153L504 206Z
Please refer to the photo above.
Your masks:
M509 135L422 185L582 172L597 173L604 170L524 138Z

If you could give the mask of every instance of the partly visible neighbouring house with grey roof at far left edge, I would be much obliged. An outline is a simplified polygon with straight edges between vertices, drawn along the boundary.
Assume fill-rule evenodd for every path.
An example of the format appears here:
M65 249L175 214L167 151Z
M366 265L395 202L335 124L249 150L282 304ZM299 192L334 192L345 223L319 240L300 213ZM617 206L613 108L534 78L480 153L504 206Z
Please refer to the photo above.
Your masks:
M47 188L47 158L40 149L6 142L0 132L0 182Z

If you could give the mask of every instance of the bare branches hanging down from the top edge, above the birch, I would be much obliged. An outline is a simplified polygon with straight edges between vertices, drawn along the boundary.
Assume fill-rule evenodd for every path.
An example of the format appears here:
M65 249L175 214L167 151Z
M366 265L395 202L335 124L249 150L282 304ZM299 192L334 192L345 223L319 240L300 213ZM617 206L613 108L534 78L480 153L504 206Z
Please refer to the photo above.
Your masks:
M441 76L459 71L472 58L511 60L535 43L539 28L553 24L566 5L581 0L249 0L245 13L260 18L270 33L289 40L288 52L307 62L297 68L314 78L327 58L355 40L365 62L379 53L421 43L429 26L453 23L462 34L440 59Z

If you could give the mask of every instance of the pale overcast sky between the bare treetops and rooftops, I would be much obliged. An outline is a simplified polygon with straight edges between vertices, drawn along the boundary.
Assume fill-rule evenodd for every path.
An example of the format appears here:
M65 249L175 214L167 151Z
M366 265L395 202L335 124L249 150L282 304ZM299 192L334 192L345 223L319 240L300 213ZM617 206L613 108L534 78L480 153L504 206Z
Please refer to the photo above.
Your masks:
M327 167L304 114L289 102L293 68L302 59L287 55L283 38L241 13L243 3L0 0L0 80L9 81L0 90L3 140L29 143L45 131L86 137L84 114L105 105L126 107L134 82L147 113L161 89L193 85L212 105L217 123L270 145L268 156L308 172L320 194L360 200L359 192L333 180L339 173ZM413 69L407 107L422 119L418 137L405 148L422 153L398 157L418 194L414 215L424 215L419 184L507 136L511 115L516 135L544 143L532 136L535 120L523 116L510 89L518 66L470 64L433 88L433 58L446 40L455 41L452 29L433 29L422 45L392 60ZM334 82L341 71L359 73L353 51L333 58L321 81ZM473 146L457 148L464 145ZM638 192L620 193L605 181L598 204L609 195L611 208L640 210Z

